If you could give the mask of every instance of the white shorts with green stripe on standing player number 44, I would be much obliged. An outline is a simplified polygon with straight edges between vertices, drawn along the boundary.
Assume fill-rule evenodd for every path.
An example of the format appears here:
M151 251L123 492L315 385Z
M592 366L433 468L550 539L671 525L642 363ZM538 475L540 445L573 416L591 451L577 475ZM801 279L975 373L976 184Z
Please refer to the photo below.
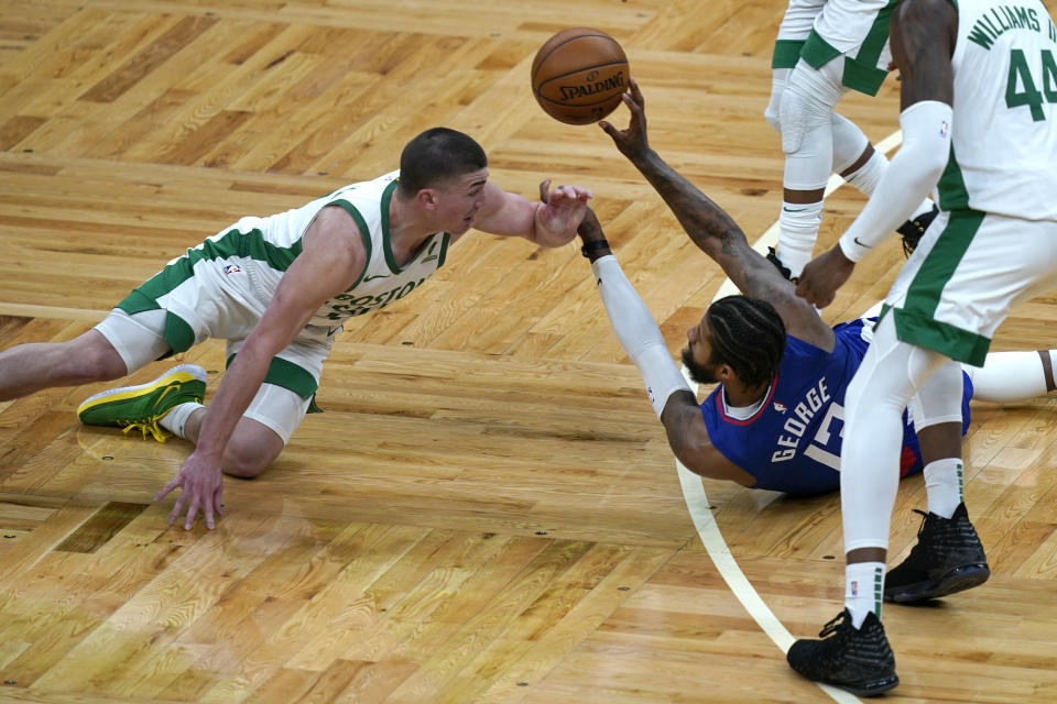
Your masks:
M983 366L1015 304L1057 287L1057 222L940 212L885 299L900 340Z

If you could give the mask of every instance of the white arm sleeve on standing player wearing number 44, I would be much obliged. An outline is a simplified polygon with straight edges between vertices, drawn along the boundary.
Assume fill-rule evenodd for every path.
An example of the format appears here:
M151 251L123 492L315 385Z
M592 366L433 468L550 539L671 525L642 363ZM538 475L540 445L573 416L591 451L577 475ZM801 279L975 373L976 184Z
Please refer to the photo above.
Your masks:
M944 173L950 154L950 106L923 100L903 111L903 146L869 202L840 238L840 249L858 262L886 240L922 205Z

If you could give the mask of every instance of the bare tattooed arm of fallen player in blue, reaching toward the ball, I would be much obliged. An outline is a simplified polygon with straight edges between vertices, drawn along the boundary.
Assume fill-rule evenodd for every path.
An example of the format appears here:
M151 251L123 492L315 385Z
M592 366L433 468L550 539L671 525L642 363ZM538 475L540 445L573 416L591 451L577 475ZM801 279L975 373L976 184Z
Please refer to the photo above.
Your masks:
M661 195L690 240L719 264L741 293L774 306L789 334L826 351L832 350L832 330L811 306L796 297L793 284L749 246L741 228L722 208L650 147L645 102L634 79L624 94L624 103L631 111L626 130L618 130L609 122L599 124L612 138L620 153Z

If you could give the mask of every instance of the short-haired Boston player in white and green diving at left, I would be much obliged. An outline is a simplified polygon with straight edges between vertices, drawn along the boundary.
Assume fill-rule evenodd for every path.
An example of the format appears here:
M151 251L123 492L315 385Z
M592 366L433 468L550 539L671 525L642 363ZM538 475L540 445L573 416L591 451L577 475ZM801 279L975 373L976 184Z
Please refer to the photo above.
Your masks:
M269 218L242 218L172 260L84 334L0 353L0 400L116 380L206 338L227 340L229 367L208 410L205 371L190 364L78 408L87 425L194 442L154 498L181 487L170 522L186 509L184 528L199 512L213 528L221 471L253 477L279 457L345 320L417 288L471 227L541 246L570 242L590 197L578 186L555 188L547 202L505 193L489 179L477 142L427 130L404 147L399 172Z

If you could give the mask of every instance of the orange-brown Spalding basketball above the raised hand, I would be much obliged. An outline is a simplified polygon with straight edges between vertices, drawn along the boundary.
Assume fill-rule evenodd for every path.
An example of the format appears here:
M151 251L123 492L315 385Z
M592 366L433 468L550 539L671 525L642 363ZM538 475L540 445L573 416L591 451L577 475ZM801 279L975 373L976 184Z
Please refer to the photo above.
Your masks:
M617 40L575 28L558 32L536 52L532 94L555 120L588 124L620 105L628 77L628 57Z

